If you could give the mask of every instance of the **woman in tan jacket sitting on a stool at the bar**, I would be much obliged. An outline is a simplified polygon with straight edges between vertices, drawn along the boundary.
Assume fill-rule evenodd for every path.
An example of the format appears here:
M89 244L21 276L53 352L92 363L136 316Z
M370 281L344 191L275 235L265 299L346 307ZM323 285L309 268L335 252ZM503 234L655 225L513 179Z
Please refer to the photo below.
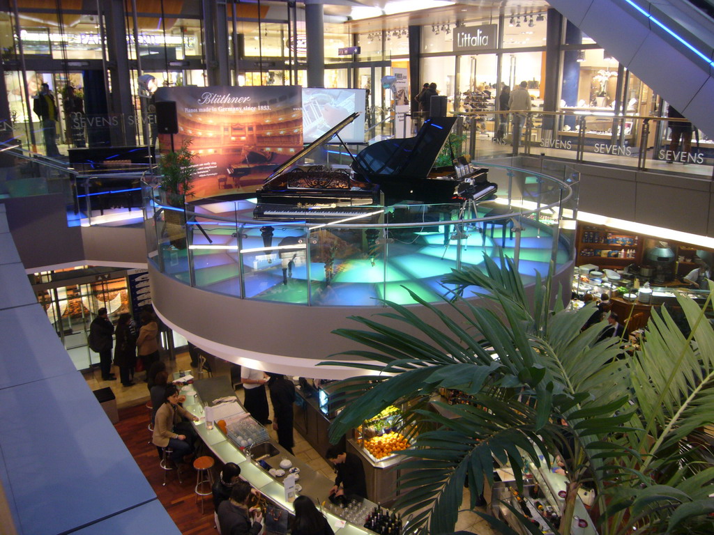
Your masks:
M154 437L151 442L162 448L168 446L173 449L171 460L176 464L186 455L193 453L193 440L196 438L191 423L182 422L181 417L198 422L198 417L178 404L178 389L169 384L164 391L164 404L156 411Z

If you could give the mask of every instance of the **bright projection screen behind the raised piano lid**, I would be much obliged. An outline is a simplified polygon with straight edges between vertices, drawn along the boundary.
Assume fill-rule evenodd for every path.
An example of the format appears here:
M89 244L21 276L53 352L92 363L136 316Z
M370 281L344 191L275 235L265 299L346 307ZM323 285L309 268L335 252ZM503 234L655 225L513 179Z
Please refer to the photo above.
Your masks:
M345 143L364 143L365 89L303 88L303 141L311 143L356 111L361 112L340 132Z

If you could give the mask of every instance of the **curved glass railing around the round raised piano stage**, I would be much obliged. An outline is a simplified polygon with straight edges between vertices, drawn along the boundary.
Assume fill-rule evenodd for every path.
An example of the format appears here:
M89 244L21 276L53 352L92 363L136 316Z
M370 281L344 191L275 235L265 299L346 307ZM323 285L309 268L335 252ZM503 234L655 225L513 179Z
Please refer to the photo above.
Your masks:
M499 249L528 282L573 260L578 175L548 165L488 165L498 184L488 201L370 208L369 218L328 224L254 220L254 199L174 208L145 184L149 261L203 290L309 306L412 303L410 292L434 302L453 291L444 275Z

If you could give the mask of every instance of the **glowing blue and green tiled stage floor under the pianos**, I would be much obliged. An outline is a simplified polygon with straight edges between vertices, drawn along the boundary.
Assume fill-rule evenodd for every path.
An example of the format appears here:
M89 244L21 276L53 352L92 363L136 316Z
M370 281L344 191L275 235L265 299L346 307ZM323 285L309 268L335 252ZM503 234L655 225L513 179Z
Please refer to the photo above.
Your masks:
M440 300L442 295L448 295L448 289L441 285L440 280L456 268L458 260L463 265L482 266L483 255L498 255L498 245L501 244L501 228L496 228L493 240L490 236L483 238L476 228L467 228L468 237L465 240L460 244L451 240L445 247L443 227L438 228L438 232L412 233L408 235L408 240L403 240L404 236L400 235L399 239L386 245L386 252L378 252L374 265L364 250L358 250L345 258L335 258L331 276L326 272L325 263L313 262L309 266L309 280L308 265L304 264L294 266L291 276L283 280L283 266L277 254L246 253L241 266L238 243L231 230L209 228L207 232L213 245L236 246L232 250L191 250L195 265L194 284L205 290L237 297L299 305L366 306L376 305L380 299L408 304L413 300L407 289L433 302ZM298 235L299 232L290 228L281 229L276 225L273 245L277 245L286 235ZM257 228L249 229L246 233L247 237L241 241L242 248L263 246ZM199 233L194 233L193 240L196 245L208 244ZM515 239L507 233L506 247L503 248L506 255L513 256L514 246ZM523 228L518 268L525 282L532 280L536 272L541 275L548 272L552 247L553 240L548 228L528 224ZM313 253L313 257L316 254ZM161 255L166 272L183 282L191 282L186 250L164 248ZM386 263L384 258L387 258ZM558 265L568 262L569 258L570 252L565 244L558 243ZM268 259L271 263L268 263Z

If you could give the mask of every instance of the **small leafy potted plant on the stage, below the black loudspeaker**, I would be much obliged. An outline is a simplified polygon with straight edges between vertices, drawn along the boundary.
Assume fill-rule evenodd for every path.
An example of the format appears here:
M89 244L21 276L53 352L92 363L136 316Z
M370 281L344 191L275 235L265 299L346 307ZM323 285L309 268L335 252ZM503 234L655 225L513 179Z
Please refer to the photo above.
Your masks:
M181 143L181 148L176 151L164 153L159 158L159 185L164 204L164 221L166 233L169 235L171 245L179 249L186 248L186 195L191 195L194 155L188 148L191 139L186 138Z

